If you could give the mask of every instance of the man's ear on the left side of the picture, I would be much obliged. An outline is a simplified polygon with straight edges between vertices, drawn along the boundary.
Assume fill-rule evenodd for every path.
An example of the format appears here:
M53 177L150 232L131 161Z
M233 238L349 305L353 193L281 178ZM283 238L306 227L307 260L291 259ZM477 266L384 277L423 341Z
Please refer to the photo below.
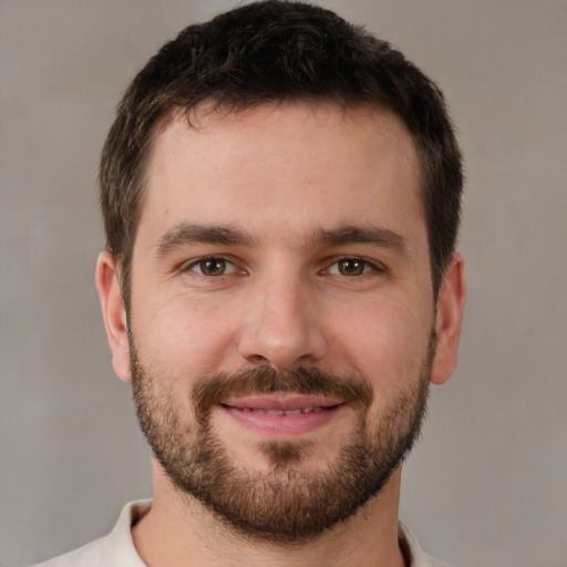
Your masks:
M130 343L126 308L118 284L116 261L110 251L99 255L95 274L96 289L101 299L106 337L112 351L112 367L116 375L130 382Z

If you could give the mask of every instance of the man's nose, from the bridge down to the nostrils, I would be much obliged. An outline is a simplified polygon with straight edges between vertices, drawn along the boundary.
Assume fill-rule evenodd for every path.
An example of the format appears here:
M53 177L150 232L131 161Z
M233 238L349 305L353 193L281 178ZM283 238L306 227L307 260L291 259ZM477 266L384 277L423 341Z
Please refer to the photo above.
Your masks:
M249 363L285 371L323 358L323 313L300 278L265 278L249 290L239 353Z

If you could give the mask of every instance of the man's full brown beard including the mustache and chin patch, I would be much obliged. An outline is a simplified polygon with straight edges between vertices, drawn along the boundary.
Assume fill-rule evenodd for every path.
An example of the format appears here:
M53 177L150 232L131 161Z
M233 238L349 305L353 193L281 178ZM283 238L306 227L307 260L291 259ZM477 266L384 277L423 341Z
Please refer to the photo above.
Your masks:
M258 367L204 377L190 399L179 401L168 390L167 377L141 364L132 336L130 342L138 422L175 488L198 499L240 535L272 544L313 539L381 491L420 434L434 355L432 333L419 375L405 381L409 385L369 431L373 392L363 377ZM264 442L259 449L269 466L261 472L247 470L246 463L230 457L213 431L210 412L223 400L276 392L329 395L355 410L357 425L326 470L301 467L315 445L305 440ZM195 420L187 423L190 408Z

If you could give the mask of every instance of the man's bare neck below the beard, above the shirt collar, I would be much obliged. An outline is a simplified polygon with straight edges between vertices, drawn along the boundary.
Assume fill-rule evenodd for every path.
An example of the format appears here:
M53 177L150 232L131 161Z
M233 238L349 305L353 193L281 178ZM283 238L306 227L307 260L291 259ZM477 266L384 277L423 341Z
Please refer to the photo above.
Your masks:
M134 545L152 567L403 567L398 542L401 470L378 496L346 522L301 544L272 544L235 532L154 466L154 503L132 529Z

